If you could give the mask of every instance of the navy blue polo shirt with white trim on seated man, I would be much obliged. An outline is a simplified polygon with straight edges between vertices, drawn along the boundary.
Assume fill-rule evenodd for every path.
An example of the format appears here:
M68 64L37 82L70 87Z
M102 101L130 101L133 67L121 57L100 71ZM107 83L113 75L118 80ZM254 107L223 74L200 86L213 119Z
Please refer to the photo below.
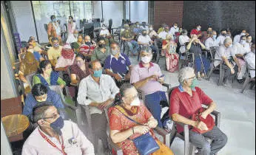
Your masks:
M119 75L127 75L127 66L130 66L131 62L127 55L120 53L119 58L116 59L113 55L109 55L104 63L104 69L110 69L113 73ZM122 75L122 76L123 76Z

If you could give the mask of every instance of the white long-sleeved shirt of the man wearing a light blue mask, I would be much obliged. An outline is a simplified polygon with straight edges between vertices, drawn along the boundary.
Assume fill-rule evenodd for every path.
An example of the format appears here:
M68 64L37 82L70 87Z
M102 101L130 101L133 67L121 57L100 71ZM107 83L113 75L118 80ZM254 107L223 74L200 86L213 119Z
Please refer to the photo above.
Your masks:
M92 75L81 80L78 89L78 103L88 106L92 102L102 103L110 98L114 99L115 94L119 92L115 81L110 75L102 74L100 85L92 79ZM102 114L102 111L94 106L90 106L90 114Z

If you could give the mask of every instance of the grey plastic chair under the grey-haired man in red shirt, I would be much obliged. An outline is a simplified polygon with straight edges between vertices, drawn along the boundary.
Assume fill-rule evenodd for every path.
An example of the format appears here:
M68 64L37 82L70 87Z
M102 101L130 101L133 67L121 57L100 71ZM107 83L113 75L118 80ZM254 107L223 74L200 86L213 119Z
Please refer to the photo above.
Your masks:
M172 89L170 89L169 98L171 97L172 91L176 88L178 88L178 86L175 86ZM170 105L170 103L169 103L169 105ZM172 108L172 107L170 107L170 108ZM218 126L218 128L220 128L220 112L212 111L211 114L215 116L215 125ZM172 125L170 145L172 145L172 142L174 141L175 137L178 137L184 141L184 155L195 155L195 151L197 148L194 145L192 145L191 142L189 142L189 125L183 124L183 123L178 123L175 121L173 121L173 122L174 122L174 124ZM179 134L177 132L175 124L183 126L183 128L184 128L183 134ZM206 138L206 140L209 142L212 141L212 140L209 140L208 138ZM215 154L215 155L217 155L217 154Z

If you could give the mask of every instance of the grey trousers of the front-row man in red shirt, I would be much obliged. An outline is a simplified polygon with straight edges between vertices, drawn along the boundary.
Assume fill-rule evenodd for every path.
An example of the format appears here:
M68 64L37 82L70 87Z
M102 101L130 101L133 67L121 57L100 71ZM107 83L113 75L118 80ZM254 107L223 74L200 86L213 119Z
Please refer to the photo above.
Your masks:
M205 138L212 140L210 144ZM189 141L198 148L198 154L213 155L226 145L228 137L217 126L204 134L189 130Z

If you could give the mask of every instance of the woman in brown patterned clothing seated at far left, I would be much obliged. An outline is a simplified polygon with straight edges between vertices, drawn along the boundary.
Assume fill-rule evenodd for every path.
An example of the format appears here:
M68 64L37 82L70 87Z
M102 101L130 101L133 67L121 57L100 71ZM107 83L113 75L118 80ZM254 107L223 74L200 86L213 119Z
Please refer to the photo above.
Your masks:
M39 63L36 61L34 55L31 52L26 52L18 71L18 77L23 82L25 94L30 92L30 84L29 81L27 81L26 76L36 72L38 66Z

